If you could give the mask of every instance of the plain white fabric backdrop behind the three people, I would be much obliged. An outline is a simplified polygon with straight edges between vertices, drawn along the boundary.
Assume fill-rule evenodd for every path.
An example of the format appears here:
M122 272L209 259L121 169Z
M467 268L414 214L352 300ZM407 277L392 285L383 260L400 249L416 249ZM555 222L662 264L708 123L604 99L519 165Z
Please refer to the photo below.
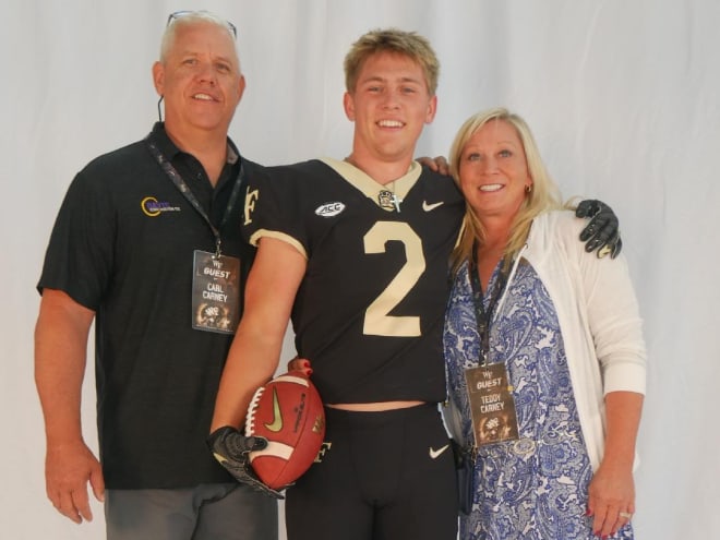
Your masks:
M248 89L230 134L254 160L347 155L344 53L365 31L395 25L428 36L442 62L419 155L447 154L466 117L506 105L529 121L565 195L613 206L649 351L637 537L717 538L717 0L3 2L0 537L103 537L100 505L77 527L45 495L34 287L74 173L156 119L151 64L168 13L201 8L238 26ZM93 376L83 420L96 445Z

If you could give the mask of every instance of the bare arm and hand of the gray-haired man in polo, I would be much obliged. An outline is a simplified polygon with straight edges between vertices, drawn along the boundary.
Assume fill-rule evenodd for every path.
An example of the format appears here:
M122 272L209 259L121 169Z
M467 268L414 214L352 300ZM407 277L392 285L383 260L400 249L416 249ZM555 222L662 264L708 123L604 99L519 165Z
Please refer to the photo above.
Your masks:
M52 505L73 521L92 520L87 482L98 501L105 482L83 441L80 406L87 334L95 312L67 293L45 289L35 327L35 384L47 441L45 480Z

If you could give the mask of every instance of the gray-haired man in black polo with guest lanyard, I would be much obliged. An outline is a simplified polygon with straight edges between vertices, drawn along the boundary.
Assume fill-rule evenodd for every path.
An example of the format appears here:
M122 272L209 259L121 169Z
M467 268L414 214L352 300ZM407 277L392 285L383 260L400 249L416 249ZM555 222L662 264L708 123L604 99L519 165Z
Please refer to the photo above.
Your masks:
M38 285L48 496L89 520L89 483L110 540L277 538L275 501L204 445L254 251L241 183L261 170L227 136L245 85L235 32L206 12L170 15L153 67L165 123L76 176ZM93 320L101 465L80 421Z

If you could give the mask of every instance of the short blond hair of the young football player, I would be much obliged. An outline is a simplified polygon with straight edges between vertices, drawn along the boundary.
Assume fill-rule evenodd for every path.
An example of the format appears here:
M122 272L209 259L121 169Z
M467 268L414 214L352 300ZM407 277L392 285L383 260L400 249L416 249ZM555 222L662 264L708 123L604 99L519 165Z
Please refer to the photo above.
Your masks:
M352 44L345 57L345 87L349 93L355 92L358 76L365 60L380 52L403 55L417 62L425 75L428 93L431 96L435 95L440 62L435 51L430 46L430 41L420 34L397 28L368 32Z

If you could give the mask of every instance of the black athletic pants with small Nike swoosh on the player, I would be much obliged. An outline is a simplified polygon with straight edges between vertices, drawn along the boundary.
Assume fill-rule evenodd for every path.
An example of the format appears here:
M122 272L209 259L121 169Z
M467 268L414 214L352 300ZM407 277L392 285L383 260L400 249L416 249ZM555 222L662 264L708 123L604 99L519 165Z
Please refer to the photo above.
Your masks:
M453 452L436 405L325 408L328 447L287 490L288 540L455 540Z

